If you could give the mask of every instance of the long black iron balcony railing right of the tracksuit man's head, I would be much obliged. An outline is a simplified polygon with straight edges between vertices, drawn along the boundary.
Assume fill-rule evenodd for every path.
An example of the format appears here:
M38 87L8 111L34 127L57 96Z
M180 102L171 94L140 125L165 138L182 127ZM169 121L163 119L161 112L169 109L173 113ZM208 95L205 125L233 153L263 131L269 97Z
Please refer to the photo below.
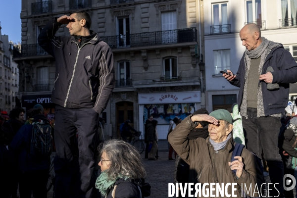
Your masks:
M110 48L129 48L197 42L196 28L100 37Z

